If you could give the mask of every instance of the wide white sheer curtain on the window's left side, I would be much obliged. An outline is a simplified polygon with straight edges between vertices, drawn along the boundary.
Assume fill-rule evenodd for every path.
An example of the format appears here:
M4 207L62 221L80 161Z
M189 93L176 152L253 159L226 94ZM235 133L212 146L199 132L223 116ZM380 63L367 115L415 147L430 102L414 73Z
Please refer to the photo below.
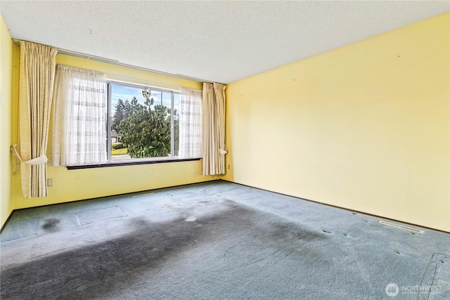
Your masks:
M58 65L52 109L50 164L105 162L105 74Z

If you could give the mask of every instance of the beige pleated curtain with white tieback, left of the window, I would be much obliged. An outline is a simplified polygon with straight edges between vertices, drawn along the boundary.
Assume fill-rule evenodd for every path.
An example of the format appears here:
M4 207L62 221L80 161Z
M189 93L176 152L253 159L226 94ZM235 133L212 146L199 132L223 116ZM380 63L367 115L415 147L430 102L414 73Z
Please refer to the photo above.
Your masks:
M56 49L20 41L19 131L24 198L46 197L46 149ZM15 148L14 148L15 149Z

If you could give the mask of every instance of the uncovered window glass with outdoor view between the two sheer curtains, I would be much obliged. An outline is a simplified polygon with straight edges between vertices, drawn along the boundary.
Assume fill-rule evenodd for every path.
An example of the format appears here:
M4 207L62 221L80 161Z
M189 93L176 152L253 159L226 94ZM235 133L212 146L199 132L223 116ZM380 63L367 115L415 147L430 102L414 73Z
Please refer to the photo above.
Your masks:
M176 159L179 93L107 81L108 162Z

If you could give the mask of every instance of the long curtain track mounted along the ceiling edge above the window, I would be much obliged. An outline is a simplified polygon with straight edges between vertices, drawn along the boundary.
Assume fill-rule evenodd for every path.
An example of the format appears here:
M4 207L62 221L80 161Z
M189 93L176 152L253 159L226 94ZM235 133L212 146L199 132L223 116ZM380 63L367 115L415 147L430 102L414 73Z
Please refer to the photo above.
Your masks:
M20 45L20 39L13 39L13 42L15 44ZM160 75L165 75L168 77L175 77L175 78L179 78L179 79L186 79L186 80L190 80L190 81L195 81L195 82L206 82L208 84L213 84L214 81L209 81L209 80L205 80L205 79L200 79L200 78L195 78L195 77L191 77L191 76L187 76L187 75L183 75L183 74L172 74L172 73L167 73L167 72L162 72L162 71L158 71L158 70L153 70L153 69L148 69L146 67L138 67L136 65L127 65L126 63L120 63L119 60L113 60L110 58L103 58L101 56L91 56L89 54L86 53L80 53L80 52L76 52L76 51L71 51L71 50L66 50L66 49L62 49L62 48L57 48L57 47L53 47L52 48L56 49L58 51L59 54L64 54L67 56L74 56L77 58L84 58L87 60L95 60L98 61L100 63L109 63L111 65L117 65L118 67L128 67L130 69L134 69L134 70L139 70L139 71L144 71L144 72L150 72L150 73L154 73L154 74L160 74Z

